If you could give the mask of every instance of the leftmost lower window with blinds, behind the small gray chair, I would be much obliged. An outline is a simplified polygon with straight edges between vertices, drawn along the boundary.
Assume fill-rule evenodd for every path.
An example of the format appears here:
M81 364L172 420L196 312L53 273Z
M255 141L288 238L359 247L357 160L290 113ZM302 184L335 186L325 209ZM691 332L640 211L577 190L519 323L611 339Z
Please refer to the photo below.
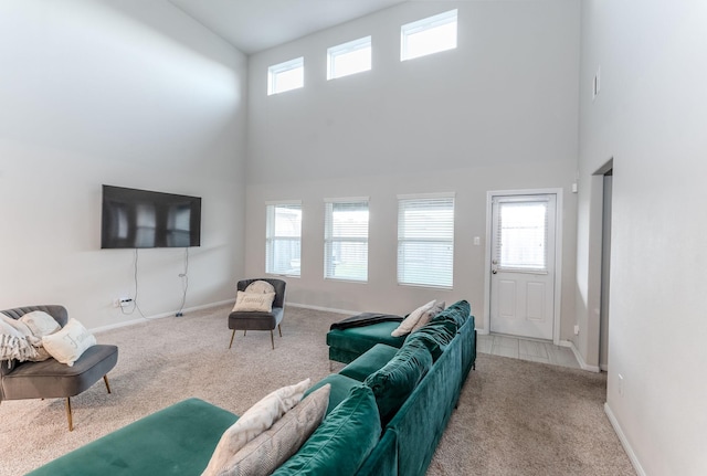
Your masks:
M302 203L267 203L265 272L299 276Z

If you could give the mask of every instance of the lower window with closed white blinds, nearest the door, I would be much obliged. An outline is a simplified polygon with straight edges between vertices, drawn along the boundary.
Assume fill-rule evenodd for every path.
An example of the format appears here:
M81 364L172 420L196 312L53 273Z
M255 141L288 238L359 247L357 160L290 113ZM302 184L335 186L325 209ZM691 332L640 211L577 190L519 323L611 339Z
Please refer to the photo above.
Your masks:
M454 195L398 197L398 284L452 288Z

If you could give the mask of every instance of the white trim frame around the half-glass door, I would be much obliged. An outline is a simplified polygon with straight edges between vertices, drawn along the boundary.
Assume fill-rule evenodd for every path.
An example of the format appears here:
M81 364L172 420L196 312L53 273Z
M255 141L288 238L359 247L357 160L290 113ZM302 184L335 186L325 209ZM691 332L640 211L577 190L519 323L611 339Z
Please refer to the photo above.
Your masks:
M490 332L490 262L492 250L492 202L494 197L507 195L548 195L556 201L555 222L555 311L552 316L552 343L560 345L560 316L562 304L562 192L557 189L494 190L486 192L486 257L484 260L484 334Z

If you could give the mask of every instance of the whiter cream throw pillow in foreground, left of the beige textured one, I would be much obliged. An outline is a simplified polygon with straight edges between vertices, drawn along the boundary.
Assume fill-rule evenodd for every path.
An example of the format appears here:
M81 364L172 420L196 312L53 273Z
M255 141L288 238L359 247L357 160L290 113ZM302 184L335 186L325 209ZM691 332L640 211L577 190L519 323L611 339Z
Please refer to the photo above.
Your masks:
M209 466L202 476L214 476L223 473L228 463L247 442L273 426L282 415L295 406L309 388L312 381L303 380L289 387L283 387L265 395L233 423L219 440Z

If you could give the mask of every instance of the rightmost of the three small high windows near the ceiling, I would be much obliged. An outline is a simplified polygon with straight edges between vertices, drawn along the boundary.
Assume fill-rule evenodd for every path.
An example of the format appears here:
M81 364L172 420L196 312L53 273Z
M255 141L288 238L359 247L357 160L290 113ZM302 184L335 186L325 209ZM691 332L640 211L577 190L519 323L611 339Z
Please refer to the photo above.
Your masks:
M435 14L400 30L400 61L456 47L456 10Z

